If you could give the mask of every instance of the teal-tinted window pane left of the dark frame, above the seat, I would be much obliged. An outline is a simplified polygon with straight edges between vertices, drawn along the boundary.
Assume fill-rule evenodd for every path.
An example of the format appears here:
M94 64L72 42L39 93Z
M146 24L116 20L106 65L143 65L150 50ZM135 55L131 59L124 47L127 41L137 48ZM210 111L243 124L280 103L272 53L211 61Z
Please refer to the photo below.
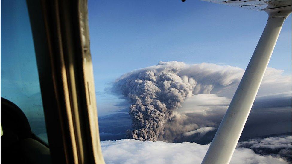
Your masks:
M48 143L26 1L1 1L1 23L1 97L22 109L32 132Z

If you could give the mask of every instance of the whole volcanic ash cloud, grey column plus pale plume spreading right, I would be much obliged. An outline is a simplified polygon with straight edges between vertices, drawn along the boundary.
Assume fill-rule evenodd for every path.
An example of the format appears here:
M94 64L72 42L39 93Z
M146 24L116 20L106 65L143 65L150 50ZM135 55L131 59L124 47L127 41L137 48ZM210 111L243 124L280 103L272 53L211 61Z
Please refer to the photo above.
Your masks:
M133 130L127 131L128 138L169 142L190 131L217 127L243 73L238 67L210 63L159 62L124 74L112 90L131 104ZM291 76L281 73L268 68L258 96L291 91ZM210 97L212 101L204 100ZM188 99L197 103L185 108Z

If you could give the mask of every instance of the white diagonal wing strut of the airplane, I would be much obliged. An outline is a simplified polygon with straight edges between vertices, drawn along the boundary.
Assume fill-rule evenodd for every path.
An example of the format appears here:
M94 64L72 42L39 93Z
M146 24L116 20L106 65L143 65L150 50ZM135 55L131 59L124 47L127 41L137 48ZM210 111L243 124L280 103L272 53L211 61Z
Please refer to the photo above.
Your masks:
M291 5L264 11L267 25L202 164L230 162Z

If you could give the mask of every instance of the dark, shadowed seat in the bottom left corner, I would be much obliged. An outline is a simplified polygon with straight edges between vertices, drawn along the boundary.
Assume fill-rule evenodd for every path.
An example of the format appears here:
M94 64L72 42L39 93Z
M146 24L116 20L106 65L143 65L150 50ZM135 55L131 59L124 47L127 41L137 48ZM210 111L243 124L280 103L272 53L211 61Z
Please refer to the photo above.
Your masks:
M51 163L50 149L32 133L21 109L1 97L1 163Z

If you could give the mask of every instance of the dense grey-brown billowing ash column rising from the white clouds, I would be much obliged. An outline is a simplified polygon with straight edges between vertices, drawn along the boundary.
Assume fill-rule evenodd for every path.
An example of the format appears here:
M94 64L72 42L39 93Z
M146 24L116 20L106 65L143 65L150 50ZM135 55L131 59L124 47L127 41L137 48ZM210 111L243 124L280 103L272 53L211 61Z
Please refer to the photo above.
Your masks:
M186 96L192 94L196 82L192 78L180 78L175 71L146 71L138 77L127 79L122 86L124 96L133 103L129 114L133 131L128 137L156 141L162 137L165 123L172 111L181 107Z

